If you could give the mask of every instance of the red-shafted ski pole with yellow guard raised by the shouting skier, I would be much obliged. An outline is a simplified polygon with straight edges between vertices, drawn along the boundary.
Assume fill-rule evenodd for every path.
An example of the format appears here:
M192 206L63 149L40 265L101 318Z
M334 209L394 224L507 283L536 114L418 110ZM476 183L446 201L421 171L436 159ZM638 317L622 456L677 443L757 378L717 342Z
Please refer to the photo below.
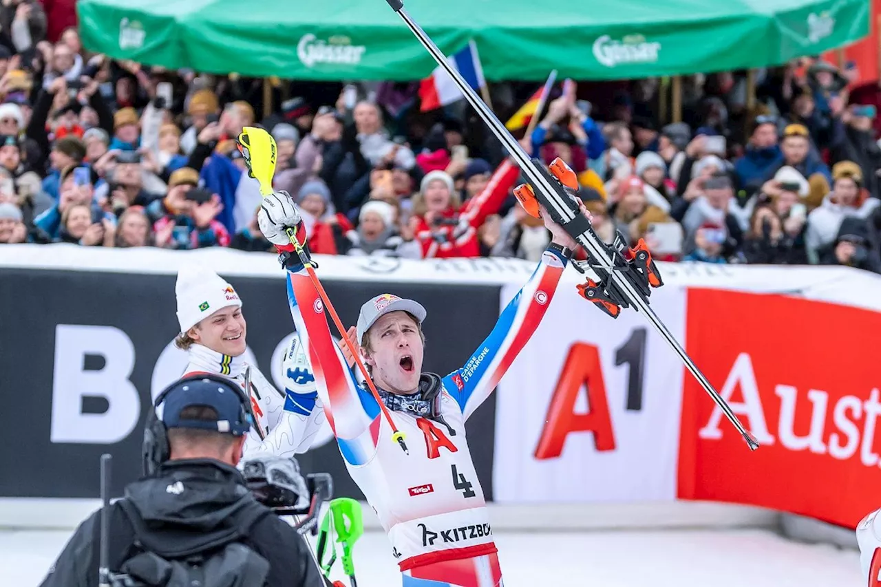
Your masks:
M242 158L248 166L248 175L260 183L260 193L263 197L274 193L275 189L272 188L272 176L275 175L276 153L278 152L278 149L272 135L264 129L254 126L246 126L241 130L236 145L239 147ZM409 455L410 450L407 449L407 443L404 442L403 432L397 429L395 422L391 419L391 414L389 413L388 408L382 403L379 391L376 390L376 386L370 378L370 374L367 373L367 368L364 366L364 363L361 362L358 349L352 345L352 341L346 336L343 321L337 316L337 310L334 309L333 304L330 303L330 298L327 292L324 291L321 280L318 279L318 276L315 274L315 268L318 267L318 264L307 256L300 241L297 240L293 228L288 228L285 232L293 245L294 251L300 256L300 262L306 267L306 271L309 274L309 278L312 279L315 289L318 290L318 295L321 297L322 302L324 302L324 307L328 309L330 317L333 319L334 324L337 325L337 330L343 338L345 346L348 347L349 352L352 353L352 357L355 358L355 362L358 363L358 368L361 370L361 374L364 375L367 387L370 388L370 392L373 394L377 405L380 406L382 415L389 422L389 426L392 430L392 441L397 442L403 452Z

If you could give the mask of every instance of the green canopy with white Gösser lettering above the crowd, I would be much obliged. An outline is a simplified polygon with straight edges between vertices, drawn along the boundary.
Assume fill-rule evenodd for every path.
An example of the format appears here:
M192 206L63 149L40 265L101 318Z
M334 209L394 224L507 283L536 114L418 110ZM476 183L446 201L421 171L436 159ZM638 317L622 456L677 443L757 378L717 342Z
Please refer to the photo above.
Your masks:
M866 0L406 0L448 55L473 39L487 79L625 79L785 63L869 33ZM436 63L382 0L79 0L86 48L209 73L424 78Z

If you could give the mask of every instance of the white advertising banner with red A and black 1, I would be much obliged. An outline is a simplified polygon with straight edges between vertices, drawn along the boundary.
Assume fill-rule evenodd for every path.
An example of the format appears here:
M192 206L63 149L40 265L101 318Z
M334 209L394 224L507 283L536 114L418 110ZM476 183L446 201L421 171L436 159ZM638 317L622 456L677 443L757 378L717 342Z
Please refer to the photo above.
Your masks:
M502 288L502 307L518 289ZM677 286L651 296L679 340L685 297ZM682 377L643 316L613 319L561 283L496 390L493 501L674 499Z

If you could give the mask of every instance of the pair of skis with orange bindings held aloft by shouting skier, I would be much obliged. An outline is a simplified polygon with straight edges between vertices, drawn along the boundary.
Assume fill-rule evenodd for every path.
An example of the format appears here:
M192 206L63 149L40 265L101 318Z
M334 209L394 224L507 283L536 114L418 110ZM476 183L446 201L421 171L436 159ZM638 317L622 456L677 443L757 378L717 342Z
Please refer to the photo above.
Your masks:
M465 99L492 130L492 134L517 160L523 175L529 182L515 189L515 196L523 209L530 215L538 217L538 204L544 205L554 222L563 227L566 233L570 234L587 252L588 261L573 262L574 267L581 273L586 273L588 269L592 270L598 280L588 278L586 283L578 286L579 293L613 318L618 317L622 308L633 308L646 316L648 322L679 355L679 358L685 363L685 368L698 380L700 386L707 391L707 394L719 405L731 424L737 428L737 432L744 437L750 450L758 449L759 442L756 442L746 431L740 420L737 419L737 415L731 411L728 402L709 383L692 358L688 356L688 353L685 353L683 346L673 337L661 319L655 315L655 311L649 307L648 296L651 294L651 289L662 286L663 281L645 242L640 239L636 246L628 248L619 234L616 234L611 244L603 242L590 226L589 219L580 212L574 197L574 193L578 189L578 180L572 169L558 159L551 163L549 171L540 160L530 159L520 144L492 113L492 110L487 108L484 101L459 75L459 72L448 63L447 57L441 53L441 49L411 19L407 11L403 10L402 0L386 0L386 2L403 19L403 22L416 35L418 41L431 54L434 61L447 71L450 78L453 78Z

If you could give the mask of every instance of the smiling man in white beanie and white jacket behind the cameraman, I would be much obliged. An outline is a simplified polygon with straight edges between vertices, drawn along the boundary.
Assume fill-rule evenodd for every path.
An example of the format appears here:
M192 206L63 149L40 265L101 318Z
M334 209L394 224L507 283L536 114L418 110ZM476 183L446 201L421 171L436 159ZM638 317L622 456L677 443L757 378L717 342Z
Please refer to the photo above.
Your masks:
M280 392L245 362L248 328L233 286L217 273L194 265L178 272L175 293L181 332L174 344L189 353L189 365L181 376L226 375L251 398L255 426L248 433L244 454L293 457L306 452L324 414L321 404L316 406L315 383L300 341L294 337L285 354L285 391Z

